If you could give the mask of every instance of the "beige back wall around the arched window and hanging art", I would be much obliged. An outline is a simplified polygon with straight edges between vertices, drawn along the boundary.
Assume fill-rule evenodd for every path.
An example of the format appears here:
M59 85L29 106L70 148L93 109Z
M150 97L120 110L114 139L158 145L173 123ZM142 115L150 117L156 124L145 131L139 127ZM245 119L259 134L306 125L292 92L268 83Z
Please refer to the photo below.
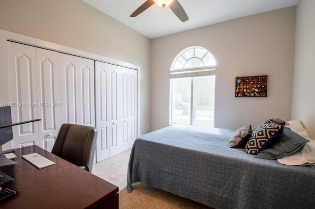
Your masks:
M237 129L291 118L295 10L289 7L152 40L151 131L169 124L169 70L190 46L217 61L215 127ZM268 97L235 98L235 77L268 75Z

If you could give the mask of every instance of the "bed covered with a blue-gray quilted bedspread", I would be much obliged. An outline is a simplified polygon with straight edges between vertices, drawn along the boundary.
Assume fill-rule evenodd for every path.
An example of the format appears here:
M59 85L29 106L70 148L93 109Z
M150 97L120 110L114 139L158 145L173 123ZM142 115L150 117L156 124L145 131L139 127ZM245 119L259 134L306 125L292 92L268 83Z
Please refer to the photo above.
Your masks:
M138 137L127 192L143 183L216 209L315 208L315 166L229 148L235 130L173 125Z

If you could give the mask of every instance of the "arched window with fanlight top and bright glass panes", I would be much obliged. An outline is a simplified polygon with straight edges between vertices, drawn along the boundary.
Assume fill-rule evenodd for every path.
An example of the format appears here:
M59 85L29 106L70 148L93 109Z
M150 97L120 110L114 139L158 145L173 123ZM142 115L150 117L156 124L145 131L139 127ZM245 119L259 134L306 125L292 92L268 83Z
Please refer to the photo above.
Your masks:
M170 70L170 124L214 126L216 60L202 47L189 47Z

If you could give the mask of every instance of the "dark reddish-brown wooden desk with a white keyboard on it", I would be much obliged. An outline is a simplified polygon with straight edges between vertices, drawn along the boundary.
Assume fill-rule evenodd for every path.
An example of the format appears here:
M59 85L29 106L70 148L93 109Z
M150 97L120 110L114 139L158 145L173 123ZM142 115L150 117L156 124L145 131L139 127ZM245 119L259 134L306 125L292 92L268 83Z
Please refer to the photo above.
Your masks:
M38 153L54 162L41 170L21 156ZM16 165L0 167L13 182L0 185L17 192L11 199L0 203L0 208L10 209L118 209L118 187L95 175L33 145L16 149Z

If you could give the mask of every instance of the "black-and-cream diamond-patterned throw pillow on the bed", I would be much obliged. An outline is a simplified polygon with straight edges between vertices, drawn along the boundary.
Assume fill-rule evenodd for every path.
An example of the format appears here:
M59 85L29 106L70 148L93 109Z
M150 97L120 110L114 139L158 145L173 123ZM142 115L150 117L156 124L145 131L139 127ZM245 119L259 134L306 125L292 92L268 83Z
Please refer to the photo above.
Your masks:
M281 136L284 127L267 120L252 130L252 137L245 146L247 154L257 154L259 151L271 147Z

